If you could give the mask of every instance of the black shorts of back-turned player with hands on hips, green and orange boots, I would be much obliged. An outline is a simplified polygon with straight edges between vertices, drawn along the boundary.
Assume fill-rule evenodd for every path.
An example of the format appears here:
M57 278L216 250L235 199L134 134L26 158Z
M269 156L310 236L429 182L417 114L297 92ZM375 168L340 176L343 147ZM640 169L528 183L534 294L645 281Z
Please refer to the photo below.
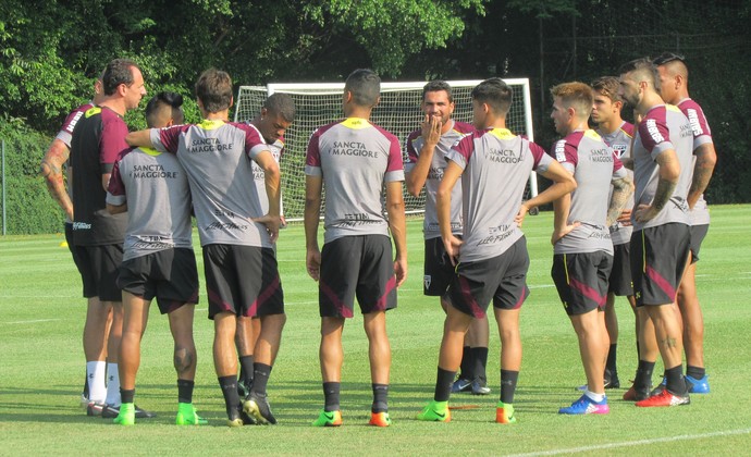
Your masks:
M529 296L528 270L527 239L522 236L492 259L460 262L446 297L454 308L478 319L485 316L491 299L494 308L518 309Z

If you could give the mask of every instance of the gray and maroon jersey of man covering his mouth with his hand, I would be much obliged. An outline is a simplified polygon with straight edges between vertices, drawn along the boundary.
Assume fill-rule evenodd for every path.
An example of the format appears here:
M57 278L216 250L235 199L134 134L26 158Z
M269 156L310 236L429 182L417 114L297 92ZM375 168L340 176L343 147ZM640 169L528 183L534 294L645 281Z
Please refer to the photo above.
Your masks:
M435 193L438 192L443 172L446 170L446 155L459 139L475 132L475 127L465 122L452 121L454 125L445 134L441 135L441 140L435 146L433 159L426 180L426 217L422 223L422 232L426 239L441 237L441 228L438 224L438 213L435 211ZM404 171L410 173L417 164L420 150L424 146L421 136L422 131L417 129L409 134L405 144ZM454 234L461 234L461 184L456 183L451 194L451 228Z

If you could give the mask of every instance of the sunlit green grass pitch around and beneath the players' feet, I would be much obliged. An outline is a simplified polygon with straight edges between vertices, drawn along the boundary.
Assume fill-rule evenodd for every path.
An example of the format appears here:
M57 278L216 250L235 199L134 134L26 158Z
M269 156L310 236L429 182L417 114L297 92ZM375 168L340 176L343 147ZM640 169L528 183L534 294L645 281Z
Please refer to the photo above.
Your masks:
M0 455L553 455L737 454L751 444L751 206L712 209L697 283L704 309L705 353L712 393L679 408L636 408L610 391L611 413L557 415L583 382L576 336L550 279L551 213L525 224L532 295L521 313L525 358L516 394L518 423L494 423L498 395L498 343L491 324L488 363L493 392L454 395L451 423L414 419L432 397L443 312L422 296L421 221L408 225L409 277L398 308L389 313L393 366L390 429L367 427L371 393L367 339L357 316L344 333L344 427L316 429L323 404L318 368L317 288L305 272L301 225L282 232L279 259L287 325L270 382L276 427L225 427L224 404L211 360L212 324L205 295L196 308L198 372L194 403L204 428L173 425L176 410L172 341L156 306L143 344L136 402L158 417L121 428L86 417L78 407L84 374L81 332L85 301L62 235L0 238ZM196 237L197 238L197 237ZM199 263L200 264L200 263ZM636 370L633 317L625 299L618 370L623 384ZM492 320L491 320L492 322ZM662 367L655 369L660 373ZM658 381L655 379L654 381Z

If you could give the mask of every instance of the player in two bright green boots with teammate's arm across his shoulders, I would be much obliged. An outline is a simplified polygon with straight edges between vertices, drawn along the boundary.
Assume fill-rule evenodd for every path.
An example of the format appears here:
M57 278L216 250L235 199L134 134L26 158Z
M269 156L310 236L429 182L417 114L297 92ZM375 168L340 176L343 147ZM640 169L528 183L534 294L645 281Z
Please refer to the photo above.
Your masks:
M183 123L183 97L160 92L146 106L149 127ZM107 193L107 210L127 211L127 230L118 285L123 289L123 337L120 342L122 404L114 423L135 423L136 373L140 339L156 297L168 314L174 338L178 425L207 423L193 406L196 345L193 311L198 302L198 270L190 238L190 198L177 159L149 148L126 151L115 162Z

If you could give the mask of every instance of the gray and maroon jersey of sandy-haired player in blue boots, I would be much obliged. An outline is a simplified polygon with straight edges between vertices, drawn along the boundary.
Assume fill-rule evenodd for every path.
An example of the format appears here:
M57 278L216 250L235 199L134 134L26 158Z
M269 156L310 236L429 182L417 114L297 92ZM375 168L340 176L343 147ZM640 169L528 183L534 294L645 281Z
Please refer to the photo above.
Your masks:
M555 159L571 172L577 188L571 193L567 224L580 225L561 238L555 254L605 251L613 254L606 223L611 183L626 177L616 152L594 131L577 131L553 145Z

